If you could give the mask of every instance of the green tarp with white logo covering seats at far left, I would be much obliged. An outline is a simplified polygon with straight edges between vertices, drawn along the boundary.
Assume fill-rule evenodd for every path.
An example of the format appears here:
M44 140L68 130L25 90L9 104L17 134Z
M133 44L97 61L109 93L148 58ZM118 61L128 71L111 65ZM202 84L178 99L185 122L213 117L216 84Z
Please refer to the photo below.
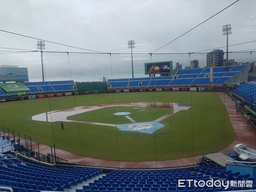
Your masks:
M32 92L23 83L1 83L0 87L5 90L6 93Z

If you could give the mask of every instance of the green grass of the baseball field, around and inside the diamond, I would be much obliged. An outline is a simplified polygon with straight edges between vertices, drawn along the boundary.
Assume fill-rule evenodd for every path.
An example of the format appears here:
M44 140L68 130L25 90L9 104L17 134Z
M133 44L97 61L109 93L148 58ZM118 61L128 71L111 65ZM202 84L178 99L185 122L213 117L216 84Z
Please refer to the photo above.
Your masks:
M119 102L192 103L192 108L169 116L165 126L153 134L119 131L115 127L84 123L40 122L31 116L58 109ZM65 96L0 103L0 126L31 136L38 143L84 156L106 160L151 161L192 157L218 151L231 144L234 131L223 102L210 92L143 92ZM129 108L103 108L70 119L116 122L113 111ZM130 108L132 110L132 108ZM133 111L134 119L152 121L169 113L166 108ZM129 111L127 111L129 112ZM123 118L123 117L122 117ZM127 119L121 119L120 123ZM138 121L138 120L137 120ZM119 123L119 121L118 121Z

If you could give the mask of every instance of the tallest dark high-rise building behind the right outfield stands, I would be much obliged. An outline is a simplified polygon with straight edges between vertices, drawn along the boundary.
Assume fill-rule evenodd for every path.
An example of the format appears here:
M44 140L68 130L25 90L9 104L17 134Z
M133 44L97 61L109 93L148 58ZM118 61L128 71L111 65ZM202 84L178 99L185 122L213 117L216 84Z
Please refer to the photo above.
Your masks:
M221 49L214 49L207 53L207 67L223 66L224 52Z

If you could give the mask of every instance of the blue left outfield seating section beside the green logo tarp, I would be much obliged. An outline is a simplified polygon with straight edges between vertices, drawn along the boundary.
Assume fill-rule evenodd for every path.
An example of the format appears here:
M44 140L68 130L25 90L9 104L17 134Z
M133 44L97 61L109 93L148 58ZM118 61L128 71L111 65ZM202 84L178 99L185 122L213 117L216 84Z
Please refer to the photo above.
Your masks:
M29 82L24 83L32 92L53 92L74 90L73 81Z

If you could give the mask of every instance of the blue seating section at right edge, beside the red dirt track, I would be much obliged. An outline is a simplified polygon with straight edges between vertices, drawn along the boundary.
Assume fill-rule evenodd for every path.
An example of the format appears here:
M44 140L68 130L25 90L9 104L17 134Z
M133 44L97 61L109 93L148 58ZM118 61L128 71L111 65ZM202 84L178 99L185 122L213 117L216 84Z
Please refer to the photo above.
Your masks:
M238 96L242 97L250 105L256 105L256 82L245 82L237 85L233 90Z

